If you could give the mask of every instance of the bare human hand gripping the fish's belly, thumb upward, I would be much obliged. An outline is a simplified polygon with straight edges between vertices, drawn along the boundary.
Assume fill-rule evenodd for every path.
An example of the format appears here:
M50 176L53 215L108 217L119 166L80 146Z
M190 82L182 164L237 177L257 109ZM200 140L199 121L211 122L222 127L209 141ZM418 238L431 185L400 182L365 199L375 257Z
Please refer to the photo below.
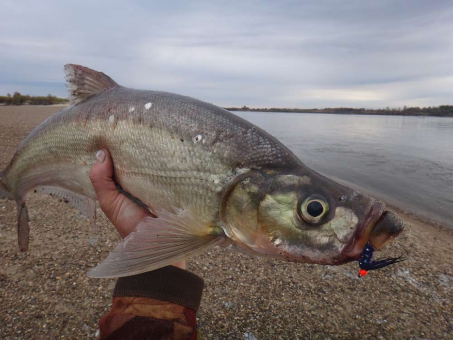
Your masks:
M117 190L113 180L112 158L107 150L99 150L96 153L96 164L91 169L89 176L101 210L115 226L121 238L132 233L137 224L145 217L154 217L150 211L145 210ZM173 266L185 269L185 261L176 262Z

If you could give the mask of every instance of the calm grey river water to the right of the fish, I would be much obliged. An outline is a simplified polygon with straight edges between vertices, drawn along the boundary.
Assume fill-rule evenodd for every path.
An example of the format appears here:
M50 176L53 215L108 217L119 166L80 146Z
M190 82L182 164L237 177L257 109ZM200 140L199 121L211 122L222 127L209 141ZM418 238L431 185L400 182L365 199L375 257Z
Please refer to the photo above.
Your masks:
M453 228L453 118L234 112L304 164Z

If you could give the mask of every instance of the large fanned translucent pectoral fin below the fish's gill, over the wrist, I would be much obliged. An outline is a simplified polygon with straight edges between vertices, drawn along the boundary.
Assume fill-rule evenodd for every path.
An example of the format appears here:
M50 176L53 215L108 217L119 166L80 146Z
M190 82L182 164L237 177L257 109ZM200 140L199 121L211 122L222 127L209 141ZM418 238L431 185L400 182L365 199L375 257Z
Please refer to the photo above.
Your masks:
M120 277L149 272L224 241L217 226L200 225L181 209L158 212L145 218L115 250L87 274L91 277Z

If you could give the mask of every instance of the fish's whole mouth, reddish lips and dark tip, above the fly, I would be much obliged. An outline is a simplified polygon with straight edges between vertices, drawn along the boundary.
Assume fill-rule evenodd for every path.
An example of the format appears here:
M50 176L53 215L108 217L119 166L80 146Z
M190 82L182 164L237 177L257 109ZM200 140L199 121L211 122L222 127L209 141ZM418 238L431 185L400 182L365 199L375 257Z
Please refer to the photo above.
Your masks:
M404 222L393 212L385 210L384 204L374 201L348 244L341 251L344 261L356 260L365 245L370 242L375 249L382 249L403 232Z

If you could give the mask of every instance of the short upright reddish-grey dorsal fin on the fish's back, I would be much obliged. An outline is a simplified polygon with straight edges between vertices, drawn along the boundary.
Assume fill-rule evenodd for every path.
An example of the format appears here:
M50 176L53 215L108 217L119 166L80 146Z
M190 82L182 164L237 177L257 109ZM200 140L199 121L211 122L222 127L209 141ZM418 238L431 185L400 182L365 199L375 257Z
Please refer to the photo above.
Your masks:
M119 86L108 75L81 65L66 64L65 73L69 92L67 99L71 102L81 102L109 88Z

